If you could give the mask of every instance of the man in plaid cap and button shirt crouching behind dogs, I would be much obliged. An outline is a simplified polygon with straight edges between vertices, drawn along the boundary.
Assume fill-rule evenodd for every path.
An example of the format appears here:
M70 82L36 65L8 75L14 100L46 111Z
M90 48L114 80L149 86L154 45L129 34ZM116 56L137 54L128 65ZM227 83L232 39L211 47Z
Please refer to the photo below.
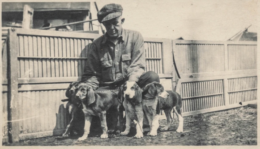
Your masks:
M106 33L93 41L82 76L82 82L95 92L118 89L127 80L136 81L141 88L159 82L155 72L145 73L143 37L137 31L122 28L122 10L121 5L108 4L97 13ZM94 121L91 125L98 124Z

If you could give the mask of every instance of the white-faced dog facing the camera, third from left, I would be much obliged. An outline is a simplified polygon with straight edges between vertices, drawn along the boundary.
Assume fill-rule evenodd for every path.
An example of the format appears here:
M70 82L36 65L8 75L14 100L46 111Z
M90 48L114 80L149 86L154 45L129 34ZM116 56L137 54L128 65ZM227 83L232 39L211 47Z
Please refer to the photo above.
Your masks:
M126 129L120 135L128 135L131 121L136 123L135 138L143 138L143 110L142 110L142 89L135 81L126 81L119 89L118 98L123 101L126 111ZM122 113L122 112L121 112Z

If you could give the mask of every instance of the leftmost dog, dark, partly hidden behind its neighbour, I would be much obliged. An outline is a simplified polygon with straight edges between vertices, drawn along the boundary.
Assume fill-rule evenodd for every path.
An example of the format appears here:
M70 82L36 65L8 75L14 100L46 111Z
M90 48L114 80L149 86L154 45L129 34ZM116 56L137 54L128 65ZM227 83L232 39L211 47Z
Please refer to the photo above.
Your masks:
M61 100L62 102L68 101L68 103L66 104L66 109L68 109L68 113L71 118L69 124L66 127L66 131L62 134L63 137L67 137L68 134L73 135L74 129L76 129L76 132L79 135L83 132L84 113L81 109L81 101L75 99L75 90L79 84L79 81L74 81L71 84L69 84L65 93L68 99Z

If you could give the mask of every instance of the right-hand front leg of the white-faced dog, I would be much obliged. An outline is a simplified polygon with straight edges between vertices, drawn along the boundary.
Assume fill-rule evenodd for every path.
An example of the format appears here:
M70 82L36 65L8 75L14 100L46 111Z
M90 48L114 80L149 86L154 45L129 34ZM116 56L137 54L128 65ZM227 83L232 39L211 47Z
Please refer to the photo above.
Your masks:
M143 110L142 103L135 105L135 113L137 115L137 124L136 124L136 135L135 138L143 138L142 122L143 122Z

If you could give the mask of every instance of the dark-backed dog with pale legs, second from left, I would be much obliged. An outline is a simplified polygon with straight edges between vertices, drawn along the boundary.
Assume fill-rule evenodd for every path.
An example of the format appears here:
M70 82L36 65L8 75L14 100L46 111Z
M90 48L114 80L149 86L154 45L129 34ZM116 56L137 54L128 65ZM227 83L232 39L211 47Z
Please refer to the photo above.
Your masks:
M112 133L118 123L119 107L122 102L118 99L118 91L94 92L92 87L81 83L76 88L76 98L81 100L83 112L85 115L84 134L78 138L78 141L87 139L93 116L99 116L103 134L101 138L108 138L108 133ZM106 123L106 111L112 111L114 116L112 121L113 127L108 131Z

